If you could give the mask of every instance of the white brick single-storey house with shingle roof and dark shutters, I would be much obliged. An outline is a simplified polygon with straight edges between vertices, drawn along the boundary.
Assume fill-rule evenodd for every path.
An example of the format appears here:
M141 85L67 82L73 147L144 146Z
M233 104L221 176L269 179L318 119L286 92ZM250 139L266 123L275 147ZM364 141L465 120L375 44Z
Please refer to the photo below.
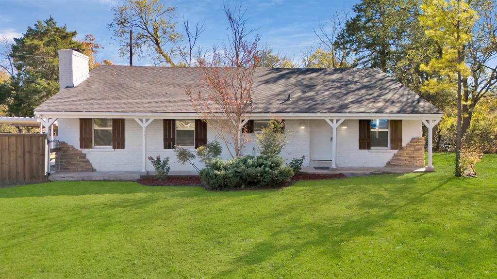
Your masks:
M46 126L57 120L58 139L85 154L94 170L153 170L151 155L171 157L171 171L191 170L175 162L172 148L216 139L184 91L202 89L201 69L99 66L88 73L88 58L77 51L61 50L59 59L61 90L35 114ZM431 134L442 116L375 69L261 68L252 99L248 136L271 117L282 118L289 138L282 156L304 155L307 166L422 167L421 127ZM243 151L257 152L253 141Z

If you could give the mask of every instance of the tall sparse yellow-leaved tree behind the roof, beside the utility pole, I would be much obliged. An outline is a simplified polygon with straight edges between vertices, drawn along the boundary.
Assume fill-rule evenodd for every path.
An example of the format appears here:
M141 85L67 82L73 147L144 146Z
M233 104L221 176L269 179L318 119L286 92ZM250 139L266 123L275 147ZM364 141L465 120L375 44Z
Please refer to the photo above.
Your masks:
M155 65L174 66L174 46L181 41L176 32L175 7L159 0L126 0L112 8L114 19L108 25L121 44L121 57L129 56L129 31L133 32L133 52L151 55Z

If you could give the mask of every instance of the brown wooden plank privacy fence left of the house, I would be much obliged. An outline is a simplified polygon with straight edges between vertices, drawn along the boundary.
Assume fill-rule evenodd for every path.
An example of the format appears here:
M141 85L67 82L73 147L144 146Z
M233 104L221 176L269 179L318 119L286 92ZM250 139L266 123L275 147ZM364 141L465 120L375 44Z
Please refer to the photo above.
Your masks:
M46 134L0 134L0 186L46 181Z

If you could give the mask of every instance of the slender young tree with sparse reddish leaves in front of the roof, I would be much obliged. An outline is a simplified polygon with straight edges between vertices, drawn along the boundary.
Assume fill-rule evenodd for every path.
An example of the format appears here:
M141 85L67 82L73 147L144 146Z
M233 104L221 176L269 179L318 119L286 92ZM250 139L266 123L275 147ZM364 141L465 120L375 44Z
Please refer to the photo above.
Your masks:
M221 50L214 48L210 63L199 60L205 90L194 92L186 88L186 93L197 113L225 143L230 155L237 157L249 140L242 129L252 111L259 37L247 40L253 30L245 27L245 12L240 6L234 10L225 7L225 11L230 23L229 46Z

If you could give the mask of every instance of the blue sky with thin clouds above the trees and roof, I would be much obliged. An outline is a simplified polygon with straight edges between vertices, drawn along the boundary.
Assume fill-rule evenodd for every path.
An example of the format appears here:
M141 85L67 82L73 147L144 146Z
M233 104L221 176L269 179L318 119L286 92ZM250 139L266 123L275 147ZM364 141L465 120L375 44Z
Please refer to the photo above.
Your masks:
M178 22L182 17L190 22L204 21L205 31L199 44L205 48L226 41L227 20L223 0L171 0L163 1L175 6ZM356 0L246 0L248 27L258 28L261 44L269 45L280 53L298 59L303 50L316 43L314 29L325 23L335 11L348 11ZM109 59L126 65L120 58L117 43L111 38L107 24L112 20L110 8L116 0L0 0L0 36L18 37L38 19L52 15L59 25L78 31L77 39L93 34L104 46L97 60ZM235 1L226 1L235 4ZM179 29L181 30L181 29ZM150 65L150 60L134 58L135 65Z

